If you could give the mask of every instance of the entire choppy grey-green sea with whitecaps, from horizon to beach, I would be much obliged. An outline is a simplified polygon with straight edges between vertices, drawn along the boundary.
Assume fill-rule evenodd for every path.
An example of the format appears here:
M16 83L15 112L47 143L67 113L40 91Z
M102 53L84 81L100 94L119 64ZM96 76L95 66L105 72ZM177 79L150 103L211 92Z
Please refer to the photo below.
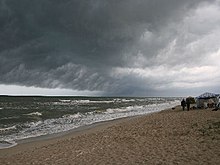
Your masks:
M0 149L15 146L19 140L145 115L179 104L178 97L0 96Z

